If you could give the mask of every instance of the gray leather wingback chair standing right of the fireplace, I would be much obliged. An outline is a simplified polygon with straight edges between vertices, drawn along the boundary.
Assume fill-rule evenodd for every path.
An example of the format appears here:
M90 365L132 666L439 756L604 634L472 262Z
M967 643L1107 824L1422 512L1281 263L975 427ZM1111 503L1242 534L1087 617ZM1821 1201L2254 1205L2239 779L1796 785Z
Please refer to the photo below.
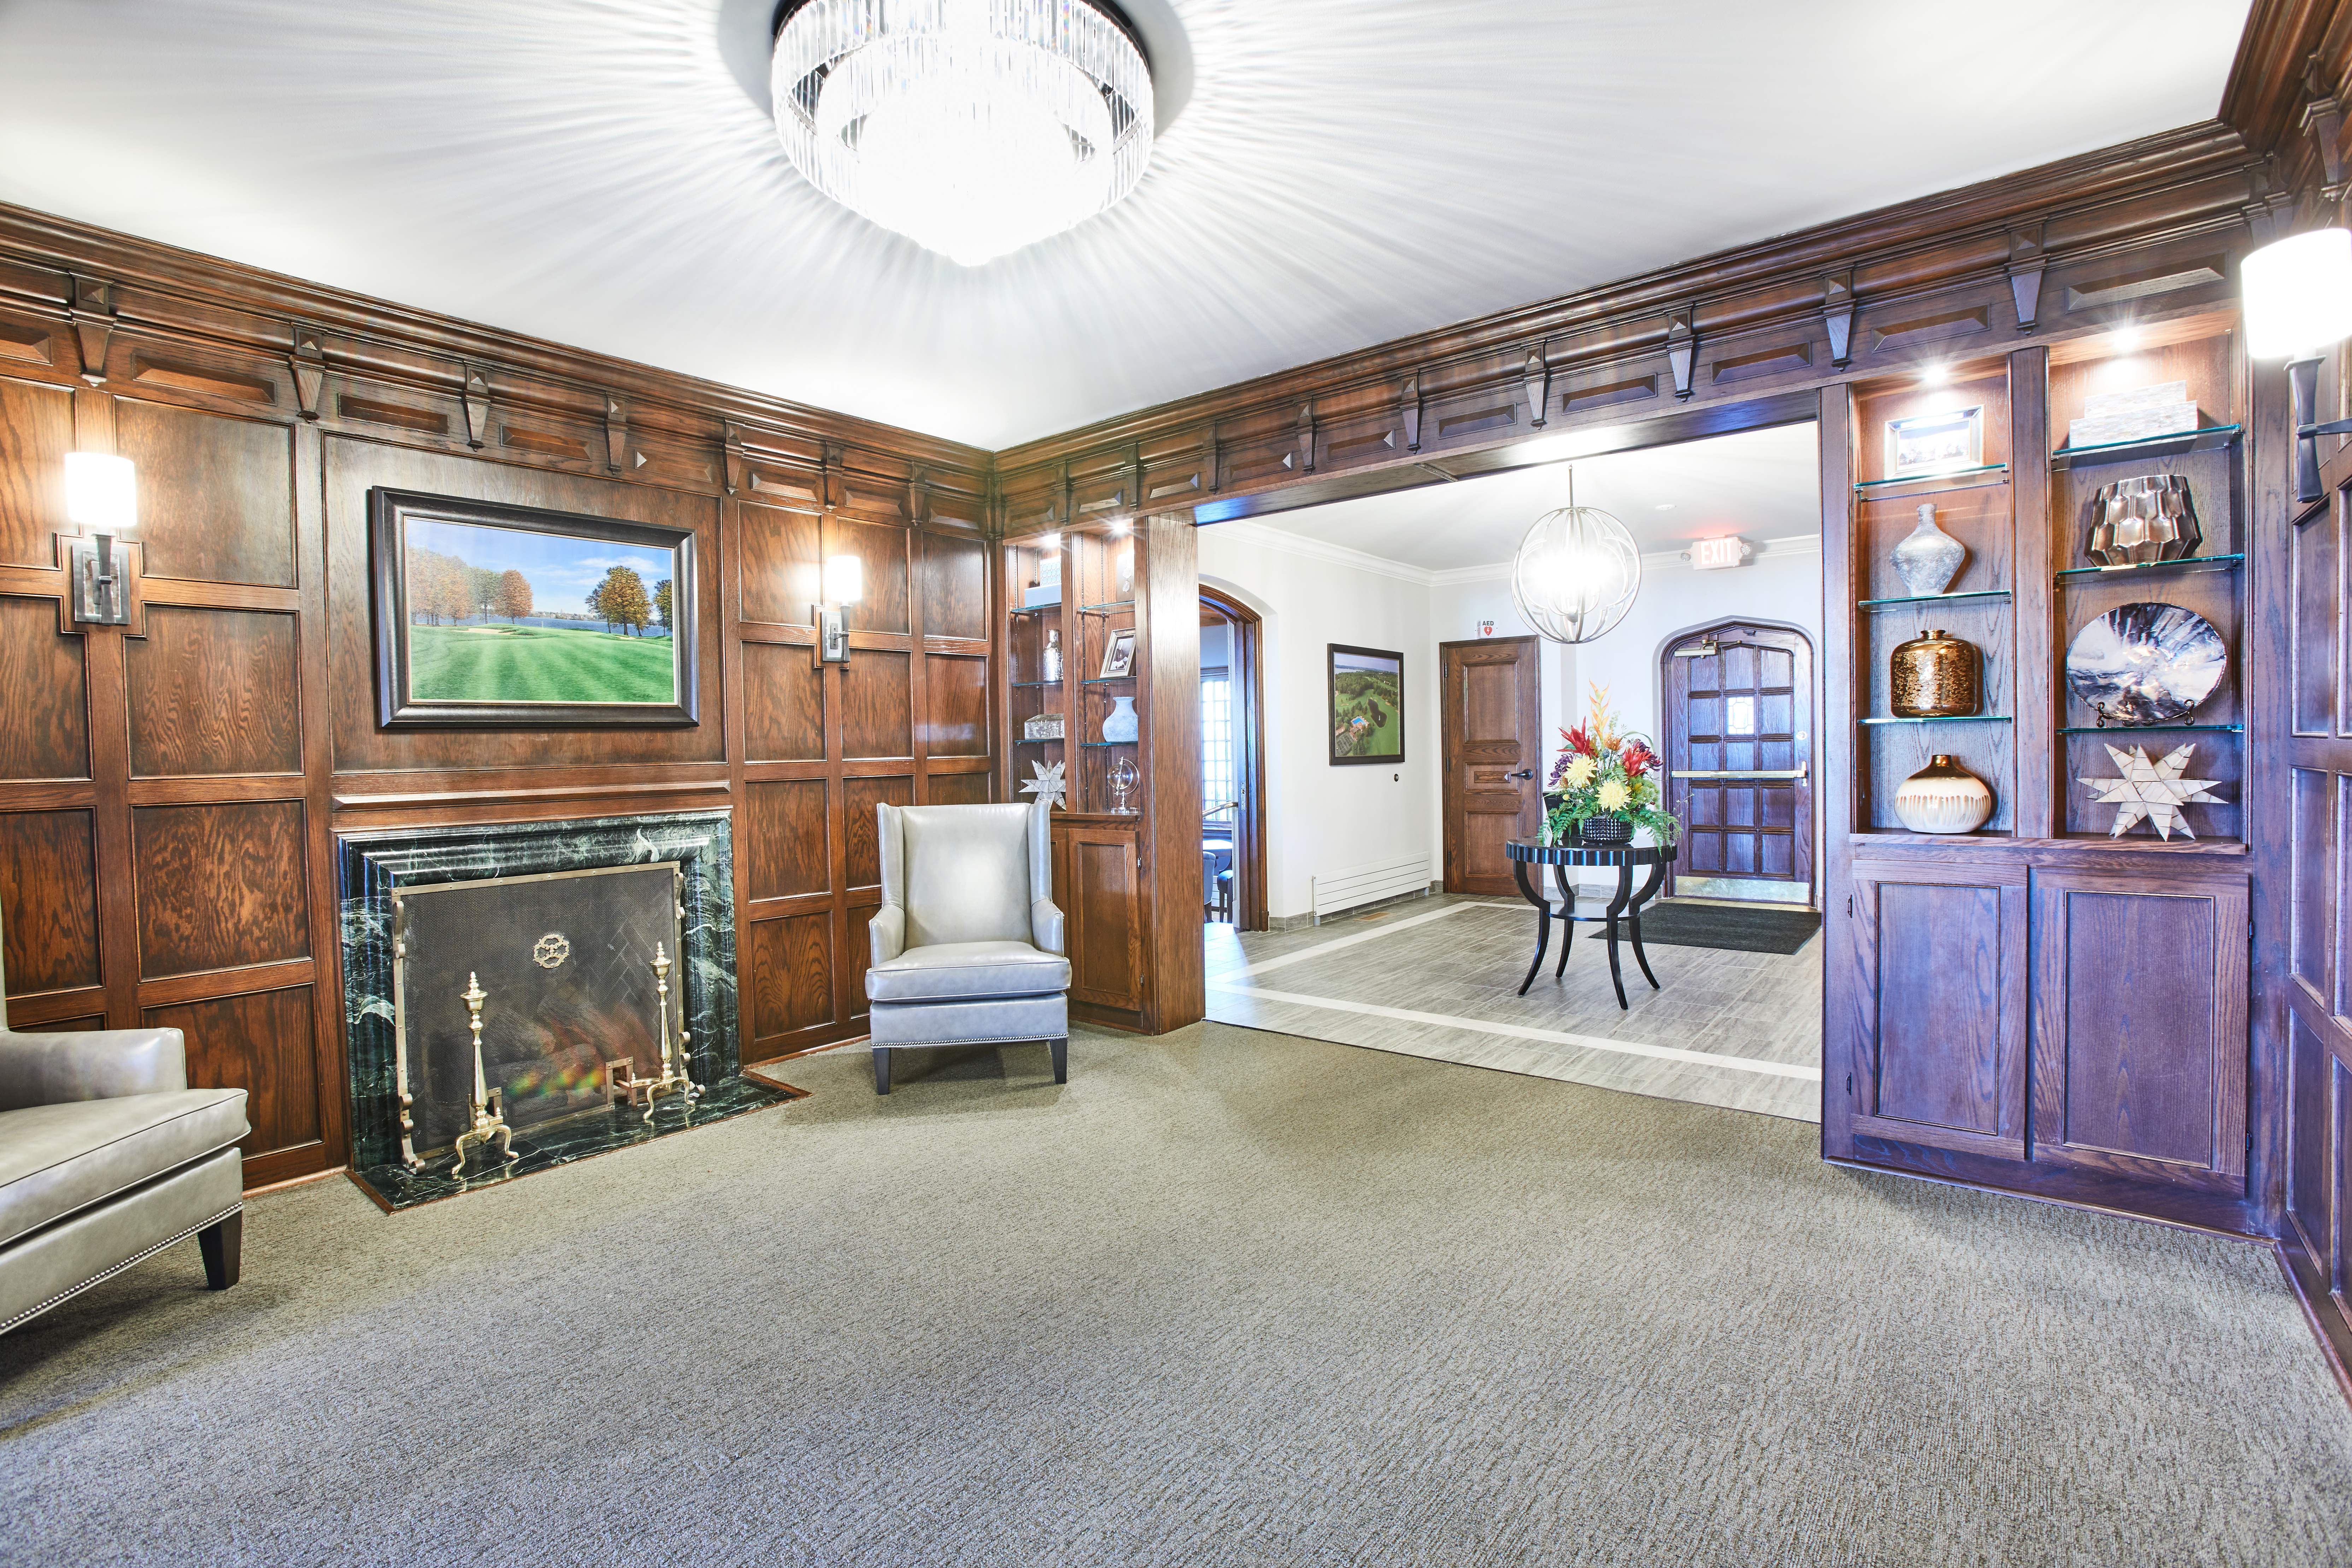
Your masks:
M1070 959L1047 802L880 806L882 910L866 926L875 1093L898 1046L1042 1039L1070 1081Z

